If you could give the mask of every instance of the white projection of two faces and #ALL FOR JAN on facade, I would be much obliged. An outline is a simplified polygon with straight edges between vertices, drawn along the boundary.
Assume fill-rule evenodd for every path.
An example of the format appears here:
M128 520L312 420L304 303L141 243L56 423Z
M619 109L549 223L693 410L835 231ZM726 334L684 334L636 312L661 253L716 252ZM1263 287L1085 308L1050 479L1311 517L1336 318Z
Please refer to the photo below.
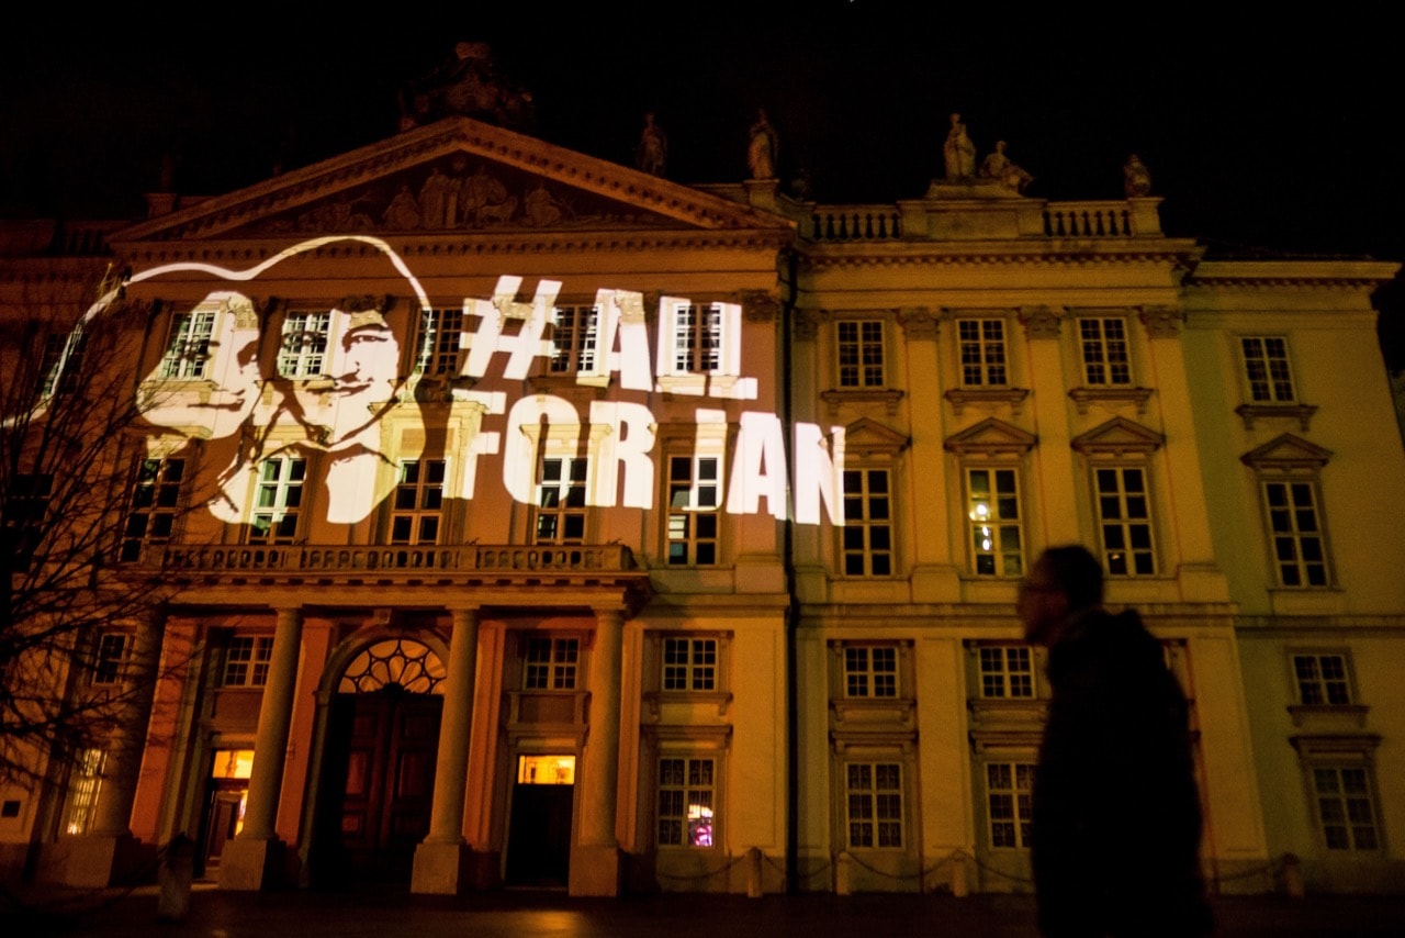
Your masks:
M374 249L393 270L396 294L330 307L264 295L260 278L332 245ZM504 276L490 297L436 308L388 243L358 235L303 240L244 270L163 264L131 276L125 288L148 283L156 294L163 278L191 277L209 277L215 287L174 309L160 359L139 384L139 409L160 430L153 451L169 456L173 437L176 446L201 442L219 467L205 503L223 522L251 525L259 540L292 537L303 489L313 484L326 487L326 498L316 499L325 520L368 518L403 481L396 460L420 456L413 440L424 439L423 401L475 415L454 453L464 467L448 496L471 499L479 485L500 484L517 502L537 503L542 460L559 460L552 471L562 496L652 509L660 480L648 401L656 394L698 399L695 447L728 470L725 491L710 492L725 512L818 525L823 505L843 523L843 429L785 428L776 413L745 409L757 380L740 374L738 304L665 295L648 311L651 323L635 291L599 290L593 305L563 308L559 281L538 281L524 300L523 280ZM576 384L613 385L615 394L579 406L503 390L549 374L563 359ZM577 458L582 453L587 458ZM500 480L479 480L483 456L497 457ZM316 478L309 460L320 467Z

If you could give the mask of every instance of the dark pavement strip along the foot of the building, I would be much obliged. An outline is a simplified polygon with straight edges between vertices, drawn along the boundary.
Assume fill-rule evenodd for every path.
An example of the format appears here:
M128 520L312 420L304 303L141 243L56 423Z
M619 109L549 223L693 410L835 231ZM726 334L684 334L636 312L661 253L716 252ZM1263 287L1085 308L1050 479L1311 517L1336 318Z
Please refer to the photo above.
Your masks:
M1221 935L1405 935L1405 897L1221 897ZM1034 934L1028 896L656 894L570 899L551 892L410 896L377 887L354 893L229 893L197 886L190 914L157 923L155 887L31 894L0 907L0 934L20 935L473 935L475 938L746 938L749 935Z

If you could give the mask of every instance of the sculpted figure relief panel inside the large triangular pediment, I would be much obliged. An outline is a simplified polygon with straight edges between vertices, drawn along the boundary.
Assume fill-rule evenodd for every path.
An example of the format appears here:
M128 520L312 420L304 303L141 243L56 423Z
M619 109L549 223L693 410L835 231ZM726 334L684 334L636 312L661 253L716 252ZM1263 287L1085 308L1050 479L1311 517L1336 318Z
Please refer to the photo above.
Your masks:
M667 219L511 167L455 155L270 217L260 233L638 228Z

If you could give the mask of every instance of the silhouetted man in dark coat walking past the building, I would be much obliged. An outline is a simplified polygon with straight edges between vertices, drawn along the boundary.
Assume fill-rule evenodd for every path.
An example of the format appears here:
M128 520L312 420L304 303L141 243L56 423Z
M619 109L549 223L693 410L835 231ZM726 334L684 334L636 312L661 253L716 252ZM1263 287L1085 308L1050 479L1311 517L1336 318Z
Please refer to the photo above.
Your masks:
M1186 696L1135 612L1103 609L1083 547L1044 551L1020 585L1052 688L1034 776L1031 859L1045 935L1204 935L1200 799Z

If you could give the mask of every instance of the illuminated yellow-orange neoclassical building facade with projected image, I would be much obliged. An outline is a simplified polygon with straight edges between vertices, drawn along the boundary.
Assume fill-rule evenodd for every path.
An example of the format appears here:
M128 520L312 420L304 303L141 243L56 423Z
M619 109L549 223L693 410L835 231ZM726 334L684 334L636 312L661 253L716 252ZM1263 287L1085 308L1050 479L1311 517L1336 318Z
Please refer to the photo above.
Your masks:
M1397 266L1207 259L1158 204L825 207L448 118L105 231L169 494L114 565L178 589L93 637L160 675L145 752L7 789L6 856L1028 889L1014 591L1083 541L1194 702L1218 886L1398 890Z

